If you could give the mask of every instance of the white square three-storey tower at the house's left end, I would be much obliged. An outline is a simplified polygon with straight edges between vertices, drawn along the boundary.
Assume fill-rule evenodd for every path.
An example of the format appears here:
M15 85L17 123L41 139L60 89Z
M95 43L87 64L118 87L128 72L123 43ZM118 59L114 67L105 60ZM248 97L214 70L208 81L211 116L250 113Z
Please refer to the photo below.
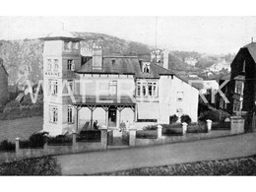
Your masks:
M41 38L43 46L43 131L56 136L75 130L75 108L70 94L79 95L75 71L81 67L80 41L70 32Z

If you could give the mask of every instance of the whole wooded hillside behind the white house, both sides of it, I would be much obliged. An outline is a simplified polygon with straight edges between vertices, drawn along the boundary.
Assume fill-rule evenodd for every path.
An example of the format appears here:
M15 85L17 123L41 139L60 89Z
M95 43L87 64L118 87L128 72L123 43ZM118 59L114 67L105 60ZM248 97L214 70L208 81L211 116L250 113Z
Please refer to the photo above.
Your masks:
M105 55L137 55L145 60L150 60L153 47L149 45L127 41L115 36L94 32L73 32L85 40L83 47L90 47L96 42L103 47ZM43 41L39 39L0 40L0 57L9 73L9 84L24 85L26 80L36 83L42 79L42 49ZM186 58L196 61L195 66L186 63ZM233 55L204 55L198 52L170 51L168 67L173 72L203 73L211 66L224 58L229 65ZM215 72L218 73L218 72Z

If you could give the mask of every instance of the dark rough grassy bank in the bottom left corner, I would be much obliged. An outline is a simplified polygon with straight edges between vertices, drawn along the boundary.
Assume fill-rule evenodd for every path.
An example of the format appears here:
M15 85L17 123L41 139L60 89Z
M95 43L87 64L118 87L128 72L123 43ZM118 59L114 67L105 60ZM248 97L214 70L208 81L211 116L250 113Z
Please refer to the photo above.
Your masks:
M0 164L0 175L60 175L56 160L42 157Z

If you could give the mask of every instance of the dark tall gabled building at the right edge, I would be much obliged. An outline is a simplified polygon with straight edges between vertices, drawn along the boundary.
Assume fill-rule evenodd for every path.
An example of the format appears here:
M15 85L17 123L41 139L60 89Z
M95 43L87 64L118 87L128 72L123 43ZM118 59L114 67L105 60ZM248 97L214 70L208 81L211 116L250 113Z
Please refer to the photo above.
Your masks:
M256 43L251 42L239 49L231 63L228 87L229 111L241 114L255 108L256 102Z

